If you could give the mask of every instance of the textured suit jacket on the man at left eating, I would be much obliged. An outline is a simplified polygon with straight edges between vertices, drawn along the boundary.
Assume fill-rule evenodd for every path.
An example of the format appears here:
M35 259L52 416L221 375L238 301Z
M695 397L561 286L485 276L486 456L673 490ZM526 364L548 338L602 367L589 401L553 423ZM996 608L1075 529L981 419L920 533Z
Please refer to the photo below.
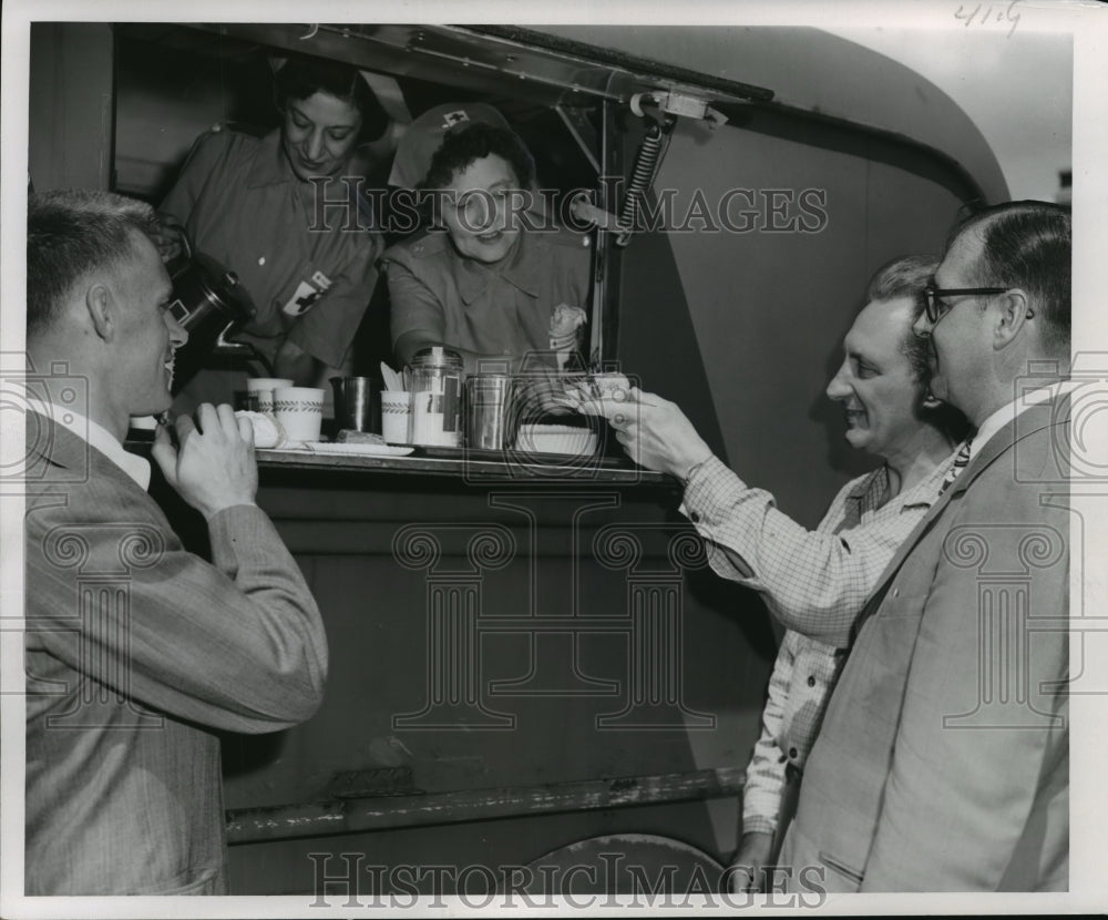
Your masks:
M322 698L319 611L269 519L189 552L115 463L28 417L28 895L222 893L219 740Z

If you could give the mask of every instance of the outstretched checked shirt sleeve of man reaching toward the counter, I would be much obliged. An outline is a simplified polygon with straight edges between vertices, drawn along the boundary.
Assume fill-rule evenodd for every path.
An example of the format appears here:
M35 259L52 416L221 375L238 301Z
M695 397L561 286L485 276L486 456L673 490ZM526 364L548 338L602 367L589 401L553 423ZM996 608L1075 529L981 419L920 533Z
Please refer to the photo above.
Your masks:
M788 628L837 647L849 645L851 624L925 511L905 509L880 527L809 531L716 457L694 474L681 508L709 542L717 573L761 592Z

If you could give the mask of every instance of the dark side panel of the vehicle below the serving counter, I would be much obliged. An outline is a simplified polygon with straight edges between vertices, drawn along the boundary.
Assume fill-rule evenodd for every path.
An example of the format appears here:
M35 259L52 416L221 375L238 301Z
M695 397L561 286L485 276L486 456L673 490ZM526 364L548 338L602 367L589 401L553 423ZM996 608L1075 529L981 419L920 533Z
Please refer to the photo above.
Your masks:
M677 482L434 452L258 451L330 673L304 725L224 739L233 893L314 891L351 852L499 877L609 832L725 859L773 638Z

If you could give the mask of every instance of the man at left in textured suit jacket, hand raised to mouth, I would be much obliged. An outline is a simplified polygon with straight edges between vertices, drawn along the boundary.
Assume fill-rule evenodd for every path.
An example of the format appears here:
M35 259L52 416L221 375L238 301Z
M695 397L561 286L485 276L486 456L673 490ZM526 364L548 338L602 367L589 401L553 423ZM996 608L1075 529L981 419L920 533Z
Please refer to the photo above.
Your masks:
M319 611L255 505L248 422L228 406L160 428L153 456L207 520L185 551L123 449L168 408L186 339L152 209L95 192L28 208L28 895L225 891L219 740L322 696Z

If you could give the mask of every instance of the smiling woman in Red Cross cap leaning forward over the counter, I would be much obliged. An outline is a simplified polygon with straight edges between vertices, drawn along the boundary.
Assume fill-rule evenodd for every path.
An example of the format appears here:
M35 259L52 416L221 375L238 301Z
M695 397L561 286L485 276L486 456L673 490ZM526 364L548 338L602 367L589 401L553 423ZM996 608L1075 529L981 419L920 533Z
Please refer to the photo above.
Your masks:
M534 160L495 109L423 113L400 142L390 184L419 190L430 223L382 259L402 364L441 345L462 356L468 374L519 371L578 350L589 238L536 211Z

